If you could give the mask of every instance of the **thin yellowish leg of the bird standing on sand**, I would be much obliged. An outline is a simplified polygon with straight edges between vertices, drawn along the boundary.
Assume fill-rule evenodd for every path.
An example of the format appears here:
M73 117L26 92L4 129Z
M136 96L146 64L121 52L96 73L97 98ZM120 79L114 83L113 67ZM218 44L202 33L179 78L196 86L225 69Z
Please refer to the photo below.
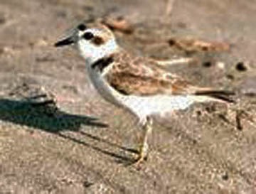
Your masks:
M139 144L139 156L135 163L136 165L138 165L139 163L144 161L144 159L146 158L147 153L149 151L149 144L147 141L152 132L152 120L149 117L146 118L146 123L143 124L142 129L143 129L144 134L143 134L141 142Z

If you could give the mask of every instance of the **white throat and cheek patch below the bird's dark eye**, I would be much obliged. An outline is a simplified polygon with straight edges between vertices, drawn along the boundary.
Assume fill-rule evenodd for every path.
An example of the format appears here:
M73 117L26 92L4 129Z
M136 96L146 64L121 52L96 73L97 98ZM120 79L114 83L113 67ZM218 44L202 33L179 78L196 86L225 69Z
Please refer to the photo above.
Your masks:
M94 45L89 41L80 40L78 41L78 50L80 50L80 55L85 58L86 62L92 64L107 55L115 53L118 50L118 45L114 38L103 45Z

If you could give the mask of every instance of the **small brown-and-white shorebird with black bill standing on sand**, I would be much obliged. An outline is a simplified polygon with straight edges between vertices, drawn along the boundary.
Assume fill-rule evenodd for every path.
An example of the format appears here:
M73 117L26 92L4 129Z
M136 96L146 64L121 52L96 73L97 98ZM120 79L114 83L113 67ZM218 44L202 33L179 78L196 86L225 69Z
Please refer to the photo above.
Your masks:
M97 92L117 107L137 117L143 131L135 163L149 153L153 118L194 103L233 103L233 91L198 87L159 65L153 58L129 53L102 23L79 23L55 47L74 45Z

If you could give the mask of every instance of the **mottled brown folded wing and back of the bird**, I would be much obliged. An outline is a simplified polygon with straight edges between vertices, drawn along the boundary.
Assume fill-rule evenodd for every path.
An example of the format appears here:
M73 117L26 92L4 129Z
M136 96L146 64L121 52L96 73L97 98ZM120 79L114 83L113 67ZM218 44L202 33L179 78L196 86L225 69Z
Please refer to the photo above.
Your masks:
M114 55L114 65L105 74L105 79L125 95L184 95L196 92L196 87L159 68L154 60L131 58L127 53Z

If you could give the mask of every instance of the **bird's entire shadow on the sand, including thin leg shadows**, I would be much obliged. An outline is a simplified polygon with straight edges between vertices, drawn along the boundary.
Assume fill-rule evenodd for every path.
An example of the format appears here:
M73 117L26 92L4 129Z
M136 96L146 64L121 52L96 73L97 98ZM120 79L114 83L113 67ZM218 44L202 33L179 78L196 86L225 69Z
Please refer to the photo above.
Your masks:
M82 125L104 128L108 126L107 124L97 121L98 119L95 117L68 114L67 112L61 111L55 104L37 104L26 100L0 99L0 120L53 133L64 139L74 141L76 144L88 146L90 149L117 158L119 161L130 162L131 159L102 149L99 146L88 144L81 139L62 133L62 131L75 131L87 139L100 141L108 146L136 153L133 149L119 146L80 130Z

